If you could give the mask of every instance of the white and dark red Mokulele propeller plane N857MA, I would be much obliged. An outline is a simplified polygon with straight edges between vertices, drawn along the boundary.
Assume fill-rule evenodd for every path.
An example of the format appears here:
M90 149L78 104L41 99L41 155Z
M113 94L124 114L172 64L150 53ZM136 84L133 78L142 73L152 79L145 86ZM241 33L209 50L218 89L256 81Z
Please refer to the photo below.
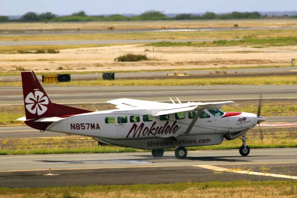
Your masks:
M99 144L150 149L161 157L165 148L176 148L175 156L185 158L185 147L218 145L239 137L242 156L249 154L246 134L265 121L245 112L223 112L225 102L187 102L176 104L135 99L107 101L115 110L95 111L52 103L34 72L22 72L26 116L18 120L41 132L51 131L93 137ZM260 126L260 124L259 124Z

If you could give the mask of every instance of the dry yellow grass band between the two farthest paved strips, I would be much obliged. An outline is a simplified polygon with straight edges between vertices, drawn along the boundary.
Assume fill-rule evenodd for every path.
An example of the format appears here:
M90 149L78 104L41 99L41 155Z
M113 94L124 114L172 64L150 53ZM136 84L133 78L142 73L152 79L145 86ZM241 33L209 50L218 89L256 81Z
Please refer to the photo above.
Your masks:
M138 40L138 39L248 39L268 37L295 37L297 29L141 32L104 34L24 34L0 35L0 41L42 40Z

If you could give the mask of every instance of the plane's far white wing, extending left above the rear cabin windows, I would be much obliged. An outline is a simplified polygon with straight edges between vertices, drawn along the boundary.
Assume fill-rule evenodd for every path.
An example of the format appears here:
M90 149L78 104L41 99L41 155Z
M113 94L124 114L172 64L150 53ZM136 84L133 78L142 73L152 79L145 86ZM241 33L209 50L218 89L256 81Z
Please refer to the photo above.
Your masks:
M164 108L174 108L173 104L165 103L165 102L152 102L146 100L135 100L128 98L120 98L115 100L107 101L110 104L116 104L116 108L145 108L145 109L164 109Z

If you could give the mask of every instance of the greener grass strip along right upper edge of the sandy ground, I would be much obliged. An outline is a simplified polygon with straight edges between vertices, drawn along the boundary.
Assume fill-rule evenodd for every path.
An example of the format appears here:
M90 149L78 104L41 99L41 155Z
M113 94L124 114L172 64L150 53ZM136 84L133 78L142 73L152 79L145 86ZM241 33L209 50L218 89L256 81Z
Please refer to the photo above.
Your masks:
M242 45L263 45L263 46L292 46L297 44L297 37L274 37L274 38L246 38L241 40L217 40L213 42L154 42L148 43L145 46L154 47L177 47L177 46L190 46L190 47L220 47L220 46L242 46ZM255 46L262 48L263 46Z

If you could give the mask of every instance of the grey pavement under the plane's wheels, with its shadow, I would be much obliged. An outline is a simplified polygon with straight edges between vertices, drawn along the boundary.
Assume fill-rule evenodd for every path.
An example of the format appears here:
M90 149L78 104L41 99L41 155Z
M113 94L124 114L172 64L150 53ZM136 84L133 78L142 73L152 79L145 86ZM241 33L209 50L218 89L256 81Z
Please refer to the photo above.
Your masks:
M0 156L0 186L295 180L296 157L297 148L251 149L247 157L237 149L189 151L186 159L173 152L162 158L148 152ZM57 175L46 176L49 167Z

